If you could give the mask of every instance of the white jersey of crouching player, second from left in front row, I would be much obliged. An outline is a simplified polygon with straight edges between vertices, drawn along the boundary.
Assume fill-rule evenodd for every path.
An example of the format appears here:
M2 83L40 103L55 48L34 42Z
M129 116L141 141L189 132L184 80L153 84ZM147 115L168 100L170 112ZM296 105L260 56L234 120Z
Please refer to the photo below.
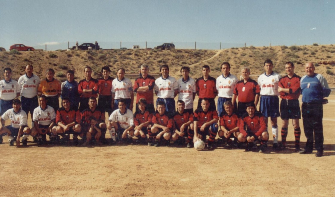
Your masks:
M55 121L56 115L54 108L47 105L46 109L42 109L41 106L35 108L32 115L32 121L37 121L40 125L50 125Z

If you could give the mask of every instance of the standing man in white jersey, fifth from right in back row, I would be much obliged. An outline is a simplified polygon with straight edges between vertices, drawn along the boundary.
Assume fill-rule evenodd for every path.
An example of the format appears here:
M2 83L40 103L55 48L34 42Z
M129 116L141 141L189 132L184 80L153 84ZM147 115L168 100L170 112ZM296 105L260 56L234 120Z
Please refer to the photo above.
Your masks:
M218 91L219 99L217 100L217 112L220 115L224 111L223 103L226 101L231 101L233 96L233 91L238 79L235 75L230 74L230 64L228 62L223 62L221 64L222 75L216 78L216 90ZM237 105L234 106L235 111L237 111Z

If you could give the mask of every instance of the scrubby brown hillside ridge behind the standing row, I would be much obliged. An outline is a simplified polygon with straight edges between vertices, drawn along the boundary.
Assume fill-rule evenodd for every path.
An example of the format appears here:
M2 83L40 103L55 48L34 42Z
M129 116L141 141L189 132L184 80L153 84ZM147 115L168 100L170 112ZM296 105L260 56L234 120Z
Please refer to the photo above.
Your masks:
M159 66L167 64L170 67L170 75L180 78L182 66L191 67L190 76L194 79L201 77L201 68L207 64L211 68L210 75L217 77L221 74L220 65L227 61L231 64L230 72L240 76L240 69L248 66L251 75L260 75L264 72L265 59L271 59L274 71L285 74L284 64L292 61L295 64L295 72L299 76L305 75L304 64L316 63L316 73L322 74L330 87L335 87L335 46L311 45L311 46L272 46L272 47L243 47L223 50L100 50L100 51L32 51L32 52L0 52L1 70L10 67L13 70L13 79L18 79L24 74L27 64L34 66L34 73L45 77L46 70L55 70L55 78L66 80L66 71L75 71L75 79L84 78L85 66L92 68L94 78L101 77L100 69L109 66L112 76L115 77L118 68L124 68L126 73L139 73L140 65L146 63L150 67L150 73L159 73ZM3 77L1 77L3 78ZM256 76L252 78L257 79Z

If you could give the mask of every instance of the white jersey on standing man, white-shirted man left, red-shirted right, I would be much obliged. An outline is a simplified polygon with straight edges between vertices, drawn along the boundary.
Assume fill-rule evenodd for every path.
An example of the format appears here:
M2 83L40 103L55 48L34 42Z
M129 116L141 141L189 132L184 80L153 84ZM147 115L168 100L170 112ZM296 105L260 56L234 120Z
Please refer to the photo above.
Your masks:
M185 109L193 108L193 93L197 92L195 80L189 77L187 81L183 81L183 78L177 81L179 87L178 100L185 102Z

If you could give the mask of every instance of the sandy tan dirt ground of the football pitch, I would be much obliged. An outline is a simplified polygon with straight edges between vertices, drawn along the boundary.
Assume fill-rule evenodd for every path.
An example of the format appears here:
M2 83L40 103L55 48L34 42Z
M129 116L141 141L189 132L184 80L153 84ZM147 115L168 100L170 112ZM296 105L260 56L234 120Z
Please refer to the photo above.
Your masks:
M32 137L28 147L17 148L9 146L8 138L4 137L4 143L0 144L0 193L1 196L334 196L334 111L335 95L331 95L329 104L324 105L323 157L294 152L292 125L287 136L288 149L273 151L270 137L265 154L222 147L196 151L186 145L37 146ZM280 118L278 125L281 128ZM300 126L304 147L302 121Z

